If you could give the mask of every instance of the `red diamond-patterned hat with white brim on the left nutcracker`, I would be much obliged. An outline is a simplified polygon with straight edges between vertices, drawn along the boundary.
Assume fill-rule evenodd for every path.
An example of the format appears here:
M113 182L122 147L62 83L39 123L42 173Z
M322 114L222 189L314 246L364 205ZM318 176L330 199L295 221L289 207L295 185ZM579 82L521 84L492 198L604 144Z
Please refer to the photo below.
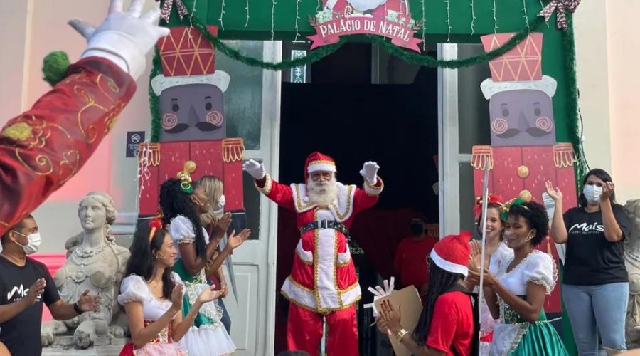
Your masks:
M218 27L207 26L218 35ZM222 70L215 70L215 48L196 28L172 27L169 36L161 38L157 45L160 52L162 74L151 80L156 95L178 85L210 84L224 93L230 77Z

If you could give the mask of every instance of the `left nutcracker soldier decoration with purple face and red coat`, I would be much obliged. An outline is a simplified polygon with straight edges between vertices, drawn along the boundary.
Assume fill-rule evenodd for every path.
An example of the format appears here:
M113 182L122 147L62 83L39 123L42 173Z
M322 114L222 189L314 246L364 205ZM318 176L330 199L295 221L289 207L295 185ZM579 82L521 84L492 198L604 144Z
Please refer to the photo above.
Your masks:
M208 26L215 36L217 28ZM162 74L151 80L159 95L160 142L139 148L140 214L156 214L159 185L183 169L183 162L196 162L193 179L215 175L223 180L225 211L233 214L234 227L242 225L242 155L240 138L226 137L224 92L230 77L215 70L215 48L189 27L171 28L158 41Z

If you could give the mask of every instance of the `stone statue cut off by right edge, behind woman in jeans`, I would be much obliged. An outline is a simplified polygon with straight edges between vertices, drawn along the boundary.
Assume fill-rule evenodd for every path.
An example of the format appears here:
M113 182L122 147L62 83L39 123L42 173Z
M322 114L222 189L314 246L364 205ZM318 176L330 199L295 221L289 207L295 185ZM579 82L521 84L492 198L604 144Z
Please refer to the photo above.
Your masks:
M624 239L624 263L629 273L629 310L626 313L626 342L640 346L640 199L629 200L624 210L631 219L631 236Z

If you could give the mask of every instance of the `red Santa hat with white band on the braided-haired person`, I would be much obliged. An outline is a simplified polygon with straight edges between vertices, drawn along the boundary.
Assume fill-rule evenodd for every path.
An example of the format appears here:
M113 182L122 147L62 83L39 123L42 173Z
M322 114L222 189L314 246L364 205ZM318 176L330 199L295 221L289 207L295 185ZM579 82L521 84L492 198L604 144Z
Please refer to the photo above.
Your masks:
M469 253L471 233L461 231L459 235L445 236L431 250L431 261L444 271L459 273L466 277L469 273Z

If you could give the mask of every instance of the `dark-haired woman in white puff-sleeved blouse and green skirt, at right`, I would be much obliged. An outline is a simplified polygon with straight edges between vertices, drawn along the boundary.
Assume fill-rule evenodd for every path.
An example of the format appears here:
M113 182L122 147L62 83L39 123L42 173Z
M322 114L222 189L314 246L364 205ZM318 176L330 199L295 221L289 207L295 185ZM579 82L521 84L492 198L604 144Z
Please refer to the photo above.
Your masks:
M548 234L545 207L523 198L505 204L504 241L513 248L513 258L503 263L493 276L484 271L484 295L489 310L500 323L494 325L491 355L565 356L560 336L543 309L545 295L558 279L553 258L538 251ZM469 271L471 280L479 280L479 268Z

